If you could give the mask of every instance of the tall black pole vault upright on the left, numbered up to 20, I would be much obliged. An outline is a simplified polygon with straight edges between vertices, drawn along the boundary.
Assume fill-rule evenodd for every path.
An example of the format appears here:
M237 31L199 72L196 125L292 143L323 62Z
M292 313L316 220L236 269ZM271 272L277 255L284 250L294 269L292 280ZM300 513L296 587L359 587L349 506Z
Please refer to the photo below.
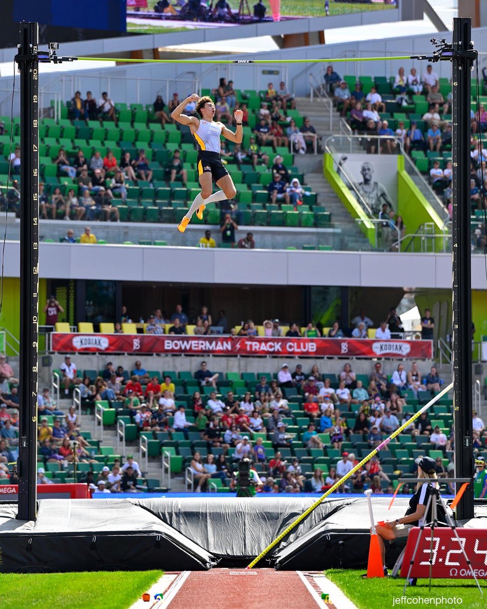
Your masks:
M21 23L20 72L20 373L19 520L37 516L37 366L39 278L39 27Z

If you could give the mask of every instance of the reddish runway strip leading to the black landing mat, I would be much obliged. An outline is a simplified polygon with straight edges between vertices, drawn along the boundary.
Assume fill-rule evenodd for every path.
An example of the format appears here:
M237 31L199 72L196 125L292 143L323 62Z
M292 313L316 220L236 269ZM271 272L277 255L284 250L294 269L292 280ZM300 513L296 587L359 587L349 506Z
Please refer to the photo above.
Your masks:
M211 569L192 571L169 609L317 609L293 571Z

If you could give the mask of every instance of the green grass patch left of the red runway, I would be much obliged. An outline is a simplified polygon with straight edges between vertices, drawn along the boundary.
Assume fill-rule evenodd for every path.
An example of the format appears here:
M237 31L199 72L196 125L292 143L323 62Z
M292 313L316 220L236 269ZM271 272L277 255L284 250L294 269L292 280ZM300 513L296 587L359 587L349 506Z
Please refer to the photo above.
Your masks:
M163 571L2 573L0 607L127 609L163 574Z

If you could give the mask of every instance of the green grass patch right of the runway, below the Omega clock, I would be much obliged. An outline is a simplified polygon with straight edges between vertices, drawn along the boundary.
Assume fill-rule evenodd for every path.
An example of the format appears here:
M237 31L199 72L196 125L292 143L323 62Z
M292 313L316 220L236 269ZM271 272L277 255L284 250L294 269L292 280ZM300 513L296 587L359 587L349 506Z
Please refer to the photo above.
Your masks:
M473 579L418 579L416 586L408 586L403 593L404 578L362 578L366 569L326 569L325 575L335 583L359 609L389 609L396 607L464 607L485 609L487 582L479 579L480 594ZM330 602L333 602L330 594ZM404 600L407 597L409 600ZM401 600L402 599L402 600Z

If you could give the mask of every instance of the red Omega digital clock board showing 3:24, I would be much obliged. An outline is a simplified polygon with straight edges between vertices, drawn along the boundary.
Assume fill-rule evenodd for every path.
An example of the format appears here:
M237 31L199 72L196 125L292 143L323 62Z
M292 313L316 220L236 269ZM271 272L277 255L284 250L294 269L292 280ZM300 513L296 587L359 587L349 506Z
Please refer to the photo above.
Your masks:
M419 530L419 527L415 527L409 532L402 560L401 577L407 576ZM430 527L424 529L413 563L411 577L430 576L430 555L432 557L432 577L446 577L449 579L472 577L472 572L462 552L463 548L471 562L472 569L474 569L475 577L485 579L487 577L487 537L485 529L463 527L463 529L457 529L457 533L461 546L449 527L435 527L433 534Z

